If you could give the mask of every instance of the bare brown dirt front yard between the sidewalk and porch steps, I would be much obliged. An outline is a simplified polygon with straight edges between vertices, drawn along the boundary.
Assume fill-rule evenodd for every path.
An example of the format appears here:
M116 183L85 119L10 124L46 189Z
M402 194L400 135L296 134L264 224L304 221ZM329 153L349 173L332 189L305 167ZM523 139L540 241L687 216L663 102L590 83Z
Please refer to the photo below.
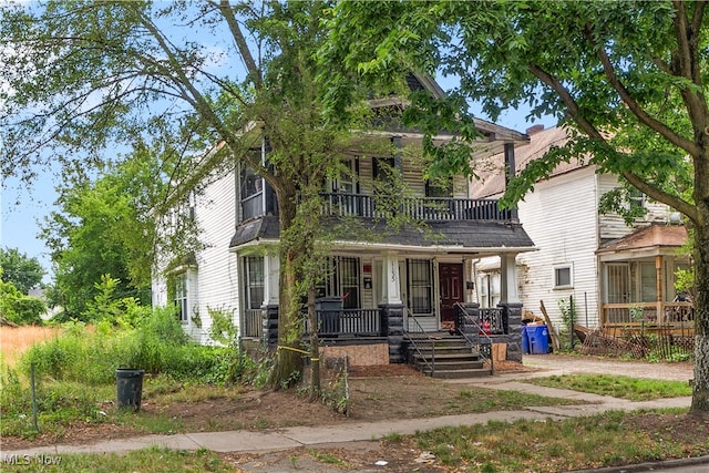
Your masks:
M520 363L503 364L497 366L497 371L525 370ZM327 380L323 382L327 383ZM425 377L408 364L354 367L349 374L349 417L320 402L308 402L305 397L284 391L248 391L237 397L201 402L157 402L150 394L144 394L141 410L135 415L177 419L181 428L176 433L294 425L346 426L348 423L380 421L388 417L413 419L455 413L461 402L460 393L465 389ZM494 393L491 395L494 397ZM100 409L110 414L116 411L112 400L104 402ZM6 436L2 438L2 448L17 450L55 443L80 444L143 434L145 432L117 420L101 424L76 423L63 429L61 436L40 434L32 441Z

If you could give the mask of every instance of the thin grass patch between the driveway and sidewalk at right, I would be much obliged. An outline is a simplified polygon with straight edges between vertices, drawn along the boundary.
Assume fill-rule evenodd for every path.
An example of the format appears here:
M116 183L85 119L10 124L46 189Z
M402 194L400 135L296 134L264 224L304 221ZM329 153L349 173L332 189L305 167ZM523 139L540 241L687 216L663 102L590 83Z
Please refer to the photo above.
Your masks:
M631 401L691 395L691 387L686 382L612 374L562 374L524 381L536 385L590 392Z

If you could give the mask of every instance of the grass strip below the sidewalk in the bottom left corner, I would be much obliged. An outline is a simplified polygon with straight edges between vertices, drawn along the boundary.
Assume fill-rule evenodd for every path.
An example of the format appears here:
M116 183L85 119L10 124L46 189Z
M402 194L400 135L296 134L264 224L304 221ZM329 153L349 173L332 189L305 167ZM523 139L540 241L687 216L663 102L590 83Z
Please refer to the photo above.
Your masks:
M20 456L17 464L4 463L6 472L236 472L235 466L207 450L196 452L144 449L126 454L48 454Z

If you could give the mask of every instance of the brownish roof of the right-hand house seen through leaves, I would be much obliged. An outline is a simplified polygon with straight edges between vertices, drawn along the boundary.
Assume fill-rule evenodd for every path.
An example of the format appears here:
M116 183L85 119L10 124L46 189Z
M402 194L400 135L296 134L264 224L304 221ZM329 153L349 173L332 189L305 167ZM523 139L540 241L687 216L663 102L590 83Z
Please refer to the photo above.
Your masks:
M540 128L540 126L542 127ZM537 125L528 128L527 134L530 143L514 148L515 173L524 169L530 162L544 156L553 146L562 146L568 141L566 130L559 126L544 130L543 125ZM486 198L502 194L505 191L504 165L505 158L502 153L482 163L483 171L479 172L480 181L473 185L471 197ZM566 174L585 166L588 166L588 163L583 163L577 158L568 163L559 163L548 177Z

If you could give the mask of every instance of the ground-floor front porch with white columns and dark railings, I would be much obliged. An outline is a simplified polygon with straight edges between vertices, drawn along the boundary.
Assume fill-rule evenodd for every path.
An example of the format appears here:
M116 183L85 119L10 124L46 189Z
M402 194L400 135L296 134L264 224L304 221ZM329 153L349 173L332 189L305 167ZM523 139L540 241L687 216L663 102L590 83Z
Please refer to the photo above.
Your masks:
M401 245L342 245L329 259L316 304L318 336L326 347L386 343L387 362L405 362L409 333L459 332L460 307L465 307L489 345L507 346L507 359L521 361L522 305L516 294L515 257L520 250L493 253L504 261L503 298L497 307L474 302L472 261L481 248L404 248ZM491 254L491 248L485 254ZM495 248L494 251L500 251ZM240 258L245 276L242 337L265 346L278 343L278 257ZM258 306L257 306L258 305ZM304 338L312 328L304 312ZM470 326L465 329L471 333Z

